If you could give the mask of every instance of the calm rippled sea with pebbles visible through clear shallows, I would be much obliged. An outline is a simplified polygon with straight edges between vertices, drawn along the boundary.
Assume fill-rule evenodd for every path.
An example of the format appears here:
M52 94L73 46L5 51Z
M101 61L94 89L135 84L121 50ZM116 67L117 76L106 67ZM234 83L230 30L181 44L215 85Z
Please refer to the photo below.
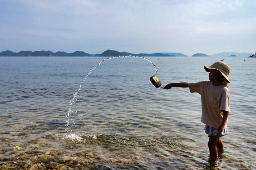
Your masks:
M200 94L156 88L208 81L230 66L229 135L210 163ZM256 169L256 59L0 57L1 169Z

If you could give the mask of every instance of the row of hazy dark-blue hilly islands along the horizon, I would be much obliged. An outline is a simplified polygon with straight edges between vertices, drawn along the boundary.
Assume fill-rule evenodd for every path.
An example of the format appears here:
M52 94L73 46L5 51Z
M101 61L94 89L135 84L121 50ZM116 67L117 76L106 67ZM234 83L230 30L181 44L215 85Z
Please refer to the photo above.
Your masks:
M202 53L193 54L192 57L249 57L252 53L235 53L235 52L223 52L213 55L207 55ZM66 53L64 51L58 51L53 53L52 51L20 51L18 53L12 52L10 50L2 51L0 53L1 57L113 57L118 55L135 55L135 56L142 56L142 57L188 57L187 55L181 53L139 53L133 54L128 52L118 52L114 50L106 50L101 54L89 54L84 53L83 51L75 51L74 53Z

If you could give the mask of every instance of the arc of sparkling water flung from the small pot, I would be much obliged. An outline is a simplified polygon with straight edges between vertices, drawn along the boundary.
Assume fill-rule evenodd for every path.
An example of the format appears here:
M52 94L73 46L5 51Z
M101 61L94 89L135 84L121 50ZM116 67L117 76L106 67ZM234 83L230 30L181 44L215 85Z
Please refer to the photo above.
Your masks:
M76 95L78 94L79 90L81 89L83 82L84 82L84 81L86 80L86 78L91 74L91 72L92 72L96 67L98 67L99 65L101 65L101 63L102 63L103 61L107 61L107 60L109 60L109 59L118 58L118 57L138 57L138 58L146 59L147 61L151 62L151 63L154 65L154 67L155 67L155 75L158 74L158 70L157 70L157 67L155 66L155 64L154 64L152 61L150 61L149 59L147 59L146 57L135 56L135 55L119 55L119 56L115 56L115 57L110 57L110 58L103 59L101 62L99 62L97 65L95 65L95 66L93 67L93 69L90 69L90 72L84 77L83 81L80 82L79 89L78 89L78 90L76 91L76 93L74 94L72 100L69 101L68 115L67 115L66 117L68 117L68 118L70 117L70 113L71 113L72 106L73 106L73 104L75 103L75 101L74 101L74 100L75 100L75 97L76 97ZM70 123L72 123L72 124L74 123L74 120L73 120L72 118L69 119L69 120L67 120L67 125L65 125L65 127L67 127L67 128L65 129L65 131L68 130L68 127L69 127ZM72 130L71 130L71 132L72 132Z

